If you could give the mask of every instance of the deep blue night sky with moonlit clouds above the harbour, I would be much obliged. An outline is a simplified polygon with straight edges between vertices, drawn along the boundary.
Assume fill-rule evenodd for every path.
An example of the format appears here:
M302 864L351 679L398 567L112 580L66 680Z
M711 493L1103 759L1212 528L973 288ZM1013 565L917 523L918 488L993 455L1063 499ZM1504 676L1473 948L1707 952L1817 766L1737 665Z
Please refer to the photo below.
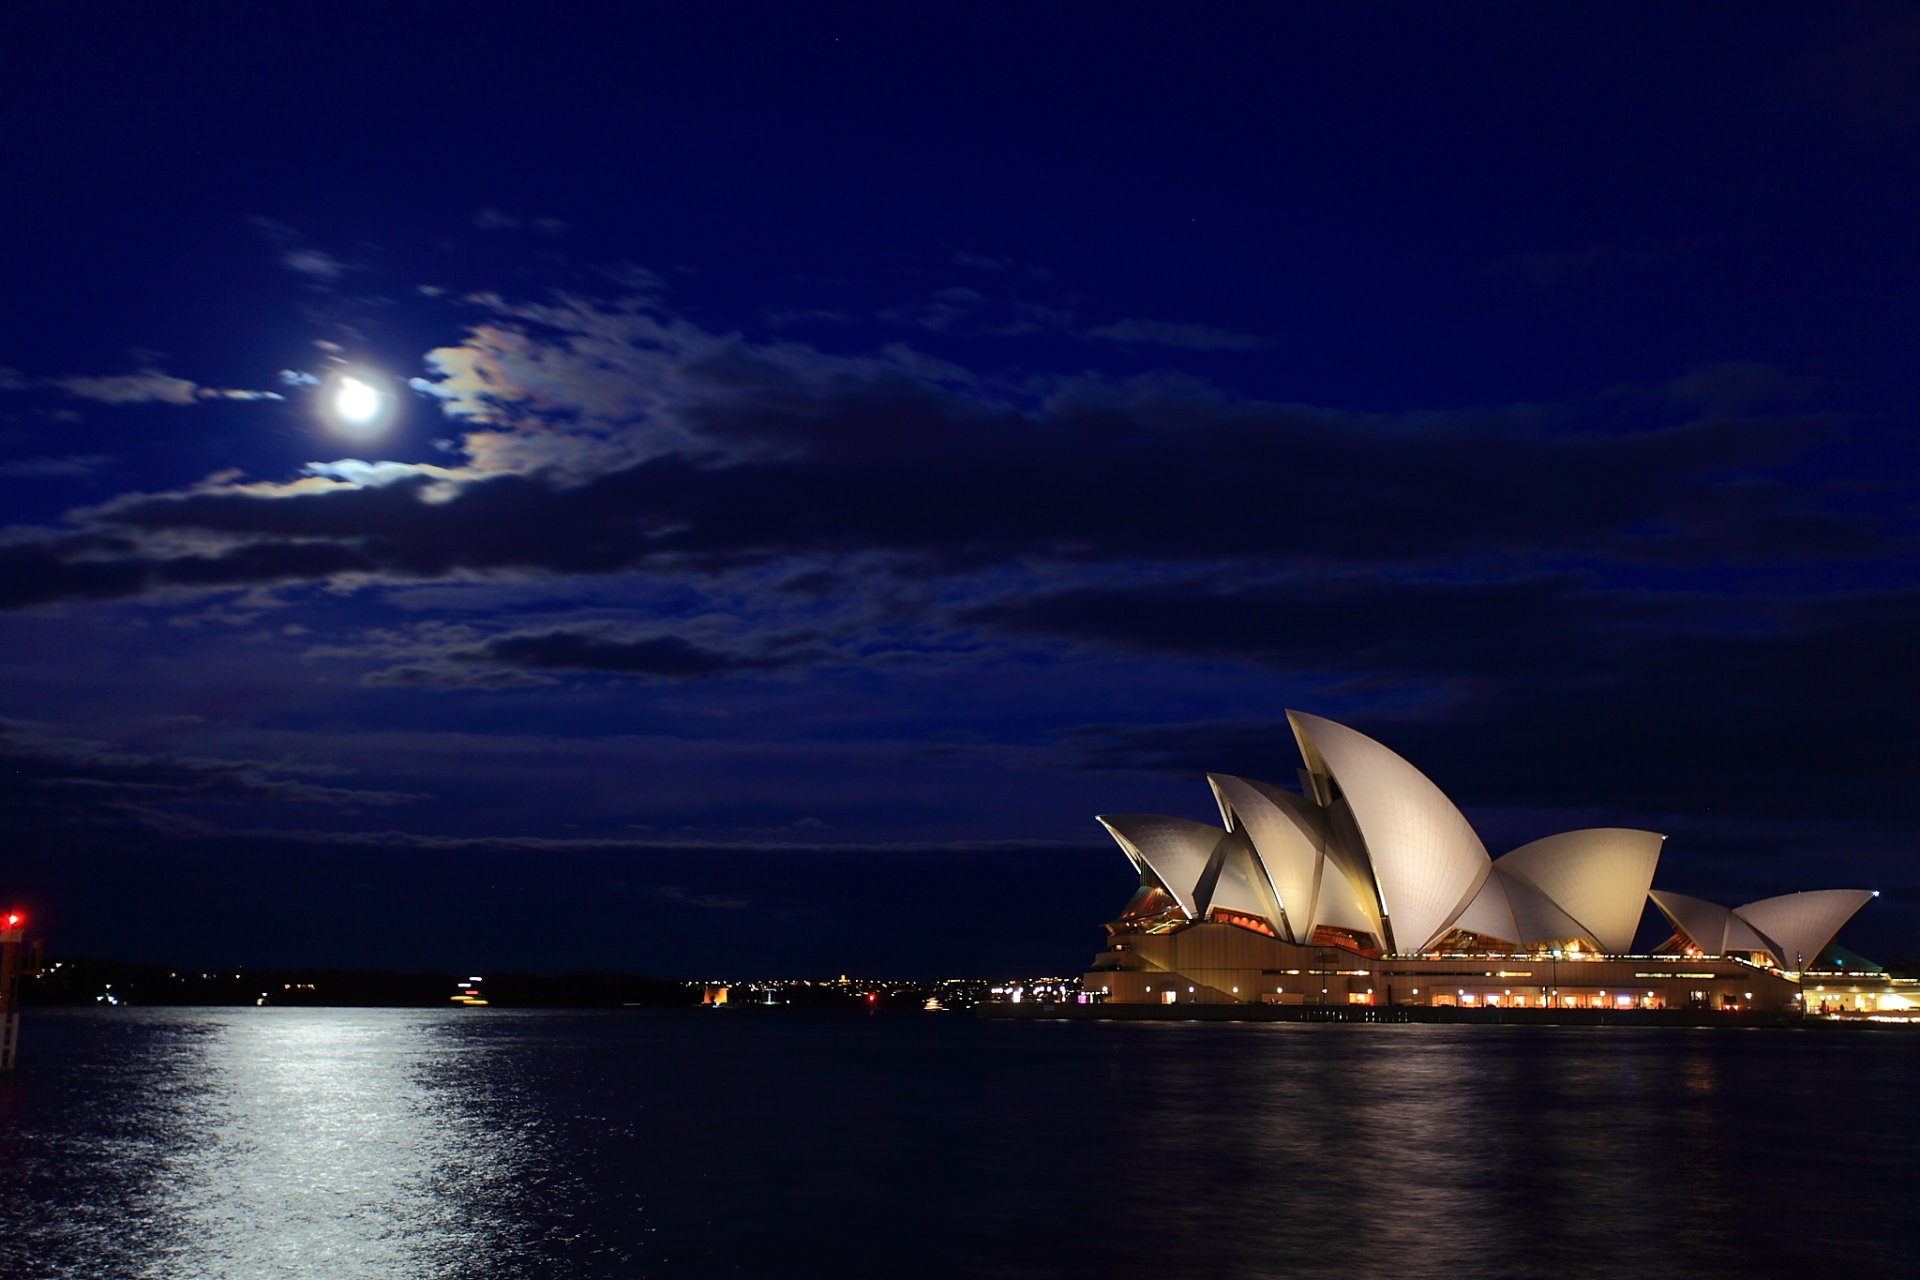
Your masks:
M0 15L52 952L1079 971L1288 706L1920 950L1920 12L593 8Z

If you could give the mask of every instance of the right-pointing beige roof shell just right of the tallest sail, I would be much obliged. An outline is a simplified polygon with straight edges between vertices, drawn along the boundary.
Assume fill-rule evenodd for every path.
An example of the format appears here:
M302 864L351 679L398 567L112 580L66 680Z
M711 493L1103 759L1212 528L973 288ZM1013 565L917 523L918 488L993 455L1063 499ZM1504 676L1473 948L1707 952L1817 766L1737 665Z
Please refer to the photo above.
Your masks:
M1561 831L1501 854L1494 867L1532 885L1580 923L1576 935L1542 936L1586 936L1599 950L1624 956L1634 946L1665 839L1630 827Z

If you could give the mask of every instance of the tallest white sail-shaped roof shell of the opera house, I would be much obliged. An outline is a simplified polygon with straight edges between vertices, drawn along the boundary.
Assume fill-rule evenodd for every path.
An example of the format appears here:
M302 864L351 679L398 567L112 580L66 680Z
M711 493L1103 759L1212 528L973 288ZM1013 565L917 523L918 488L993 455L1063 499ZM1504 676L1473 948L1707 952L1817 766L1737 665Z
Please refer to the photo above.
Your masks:
M1306 712L1286 720L1308 768L1331 777L1354 812L1394 950L1427 950L1486 877L1480 837L1425 773L1371 737Z

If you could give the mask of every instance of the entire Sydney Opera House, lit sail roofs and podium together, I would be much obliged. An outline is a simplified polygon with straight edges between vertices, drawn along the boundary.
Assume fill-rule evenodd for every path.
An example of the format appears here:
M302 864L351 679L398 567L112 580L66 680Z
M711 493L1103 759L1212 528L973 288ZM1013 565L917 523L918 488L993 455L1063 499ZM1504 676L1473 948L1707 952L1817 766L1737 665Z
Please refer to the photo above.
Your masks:
M1624 827L1490 858L1398 754L1319 716L1288 720L1300 791L1213 773L1219 825L1100 818L1140 887L1106 927L1083 998L1811 1011L1803 971L1874 896L1826 889L1724 908L1655 890L1665 837ZM1636 956L1647 898L1672 936Z

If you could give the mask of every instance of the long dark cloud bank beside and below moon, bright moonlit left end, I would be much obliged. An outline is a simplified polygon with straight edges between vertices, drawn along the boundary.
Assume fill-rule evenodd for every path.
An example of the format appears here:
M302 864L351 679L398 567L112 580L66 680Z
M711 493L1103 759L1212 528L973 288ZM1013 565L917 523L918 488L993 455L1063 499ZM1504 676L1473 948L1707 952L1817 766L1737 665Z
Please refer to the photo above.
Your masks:
M0 606L822 557L960 589L1016 566L1052 566L1058 585L1100 566L1336 578L1475 558L1498 580L1561 560L1912 551L1895 493L1809 480L1807 459L1845 455L1830 420L1688 420L1667 393L1367 415L1192 378L1071 378L1037 399L906 347L847 357L714 334L651 297L467 305L488 319L430 351L415 384L461 428L451 464L348 459L286 484L129 493L0 543ZM204 391L146 378L111 390ZM1709 382L1688 395L1755 403L1751 367ZM993 585L962 595L991 601Z

